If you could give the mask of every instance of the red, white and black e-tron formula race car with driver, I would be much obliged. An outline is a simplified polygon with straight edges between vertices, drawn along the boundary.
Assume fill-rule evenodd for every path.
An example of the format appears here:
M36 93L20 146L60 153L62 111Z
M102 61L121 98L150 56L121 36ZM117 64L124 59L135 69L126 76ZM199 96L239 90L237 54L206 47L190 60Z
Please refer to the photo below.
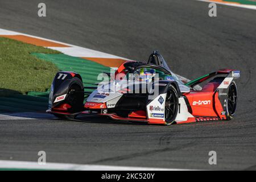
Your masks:
M184 83L154 51L147 63L125 61L114 73L102 75L104 81L84 87L78 73L58 72L47 113L62 119L98 114L118 121L171 125L230 120L236 111L237 70L220 69Z

